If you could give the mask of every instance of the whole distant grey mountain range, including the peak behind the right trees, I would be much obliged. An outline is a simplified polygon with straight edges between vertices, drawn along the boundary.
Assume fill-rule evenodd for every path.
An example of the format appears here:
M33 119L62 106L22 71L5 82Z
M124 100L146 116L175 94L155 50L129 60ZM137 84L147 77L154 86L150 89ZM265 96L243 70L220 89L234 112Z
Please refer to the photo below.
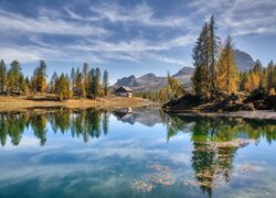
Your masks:
M235 61L240 70L250 70L255 62L245 52L241 52L238 50L235 51ZM191 87L191 77L194 73L193 67L184 66L177 74L172 75L172 77L180 80L184 87ZM114 88L118 88L120 86L130 87L135 91L158 91L163 86L167 85L167 77L156 76L152 73L142 75L141 77L135 77L134 75L129 77L124 77L118 79L117 82L113 86Z

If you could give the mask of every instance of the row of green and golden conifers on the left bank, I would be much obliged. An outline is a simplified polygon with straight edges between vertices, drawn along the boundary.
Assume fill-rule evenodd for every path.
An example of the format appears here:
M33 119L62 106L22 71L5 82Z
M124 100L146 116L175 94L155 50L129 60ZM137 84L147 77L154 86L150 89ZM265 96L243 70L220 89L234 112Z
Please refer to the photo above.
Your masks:
M34 69L31 78L24 76L22 67L18 61L10 64L7 68L4 61L0 63L0 94L7 96L33 95L33 94L54 94L60 100L75 97L96 98L108 95L108 73L104 70L102 76L100 69L91 68L84 63L83 69L73 67L71 75L56 72L47 82L46 64L40 61L39 66Z

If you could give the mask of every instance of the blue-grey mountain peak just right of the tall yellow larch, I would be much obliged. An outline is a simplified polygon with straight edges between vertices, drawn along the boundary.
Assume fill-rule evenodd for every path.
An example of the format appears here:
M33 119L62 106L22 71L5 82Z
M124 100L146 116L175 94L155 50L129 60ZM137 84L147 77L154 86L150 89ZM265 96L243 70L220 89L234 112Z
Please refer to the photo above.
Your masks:
M256 62L253 61L250 54L235 50L235 61L240 70L250 70Z

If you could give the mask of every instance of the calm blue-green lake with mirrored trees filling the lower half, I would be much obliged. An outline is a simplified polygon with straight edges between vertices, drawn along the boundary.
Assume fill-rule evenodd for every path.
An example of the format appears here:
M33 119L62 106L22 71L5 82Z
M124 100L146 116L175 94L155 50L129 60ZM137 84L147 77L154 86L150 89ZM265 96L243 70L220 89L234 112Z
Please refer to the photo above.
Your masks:
M36 109L0 139L0 197L276 195L275 121Z

